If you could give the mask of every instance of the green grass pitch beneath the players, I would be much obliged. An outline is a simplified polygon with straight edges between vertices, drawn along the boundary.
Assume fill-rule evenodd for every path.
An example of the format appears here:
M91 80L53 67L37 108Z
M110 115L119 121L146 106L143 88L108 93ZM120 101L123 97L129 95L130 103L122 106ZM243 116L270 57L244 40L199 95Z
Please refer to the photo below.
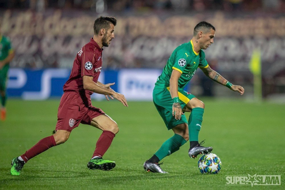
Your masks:
M198 159L188 156L189 142L166 157L162 168L169 174L147 173L143 163L169 137L152 102L118 101L93 104L119 125L105 159L117 166L111 171L88 170L101 131L87 125L73 130L69 140L31 159L20 176L10 175L11 159L23 154L56 125L59 100L9 100L7 120L0 122L1 189L237 189L225 186L227 175L281 175L284 189L284 104L249 103L241 100L202 99L205 103L200 140L213 146L222 161L217 175L202 175ZM188 117L188 115L187 115Z

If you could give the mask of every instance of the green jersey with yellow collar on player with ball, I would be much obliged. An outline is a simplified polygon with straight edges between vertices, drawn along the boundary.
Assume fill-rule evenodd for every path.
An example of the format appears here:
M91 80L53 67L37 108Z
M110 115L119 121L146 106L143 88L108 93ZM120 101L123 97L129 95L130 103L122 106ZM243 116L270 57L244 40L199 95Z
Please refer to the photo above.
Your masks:
M191 80L198 67L207 68L209 65L205 59L205 53L200 50L199 53L194 51L192 40L188 43L181 44L171 54L162 74L157 78L154 89L169 87L169 80L172 70L181 72L178 79L178 90L184 87Z

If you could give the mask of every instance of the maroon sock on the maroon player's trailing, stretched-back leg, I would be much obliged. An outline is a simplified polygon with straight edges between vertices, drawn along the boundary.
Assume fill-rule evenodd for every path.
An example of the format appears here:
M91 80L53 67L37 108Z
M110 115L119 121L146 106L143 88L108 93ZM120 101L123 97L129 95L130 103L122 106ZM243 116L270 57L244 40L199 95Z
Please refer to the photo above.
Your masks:
M27 163L27 161L29 159L35 157L36 155L46 151L47 149L49 149L55 145L56 145L56 143L54 140L54 136L49 136L49 137L43 138L38 143L36 143L33 147L28 149L25 152L25 154L21 155L21 157Z

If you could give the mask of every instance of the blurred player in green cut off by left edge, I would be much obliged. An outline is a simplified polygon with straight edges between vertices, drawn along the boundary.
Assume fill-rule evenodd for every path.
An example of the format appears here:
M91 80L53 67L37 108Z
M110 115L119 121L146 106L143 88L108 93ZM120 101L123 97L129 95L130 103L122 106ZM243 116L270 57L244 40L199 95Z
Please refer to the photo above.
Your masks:
M1 34L0 25L0 97L1 97L1 120L6 119L6 84L9 63L15 56L14 50L11 48L11 43L8 37Z

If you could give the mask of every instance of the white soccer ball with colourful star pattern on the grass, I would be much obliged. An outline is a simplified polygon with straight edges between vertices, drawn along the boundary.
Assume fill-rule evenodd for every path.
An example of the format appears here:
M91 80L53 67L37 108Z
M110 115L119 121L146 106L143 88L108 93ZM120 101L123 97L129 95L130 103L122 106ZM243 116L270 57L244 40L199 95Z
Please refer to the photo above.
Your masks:
M201 156L198 161L198 168L201 173L217 174L221 170L221 167L221 159L213 153L208 153Z

